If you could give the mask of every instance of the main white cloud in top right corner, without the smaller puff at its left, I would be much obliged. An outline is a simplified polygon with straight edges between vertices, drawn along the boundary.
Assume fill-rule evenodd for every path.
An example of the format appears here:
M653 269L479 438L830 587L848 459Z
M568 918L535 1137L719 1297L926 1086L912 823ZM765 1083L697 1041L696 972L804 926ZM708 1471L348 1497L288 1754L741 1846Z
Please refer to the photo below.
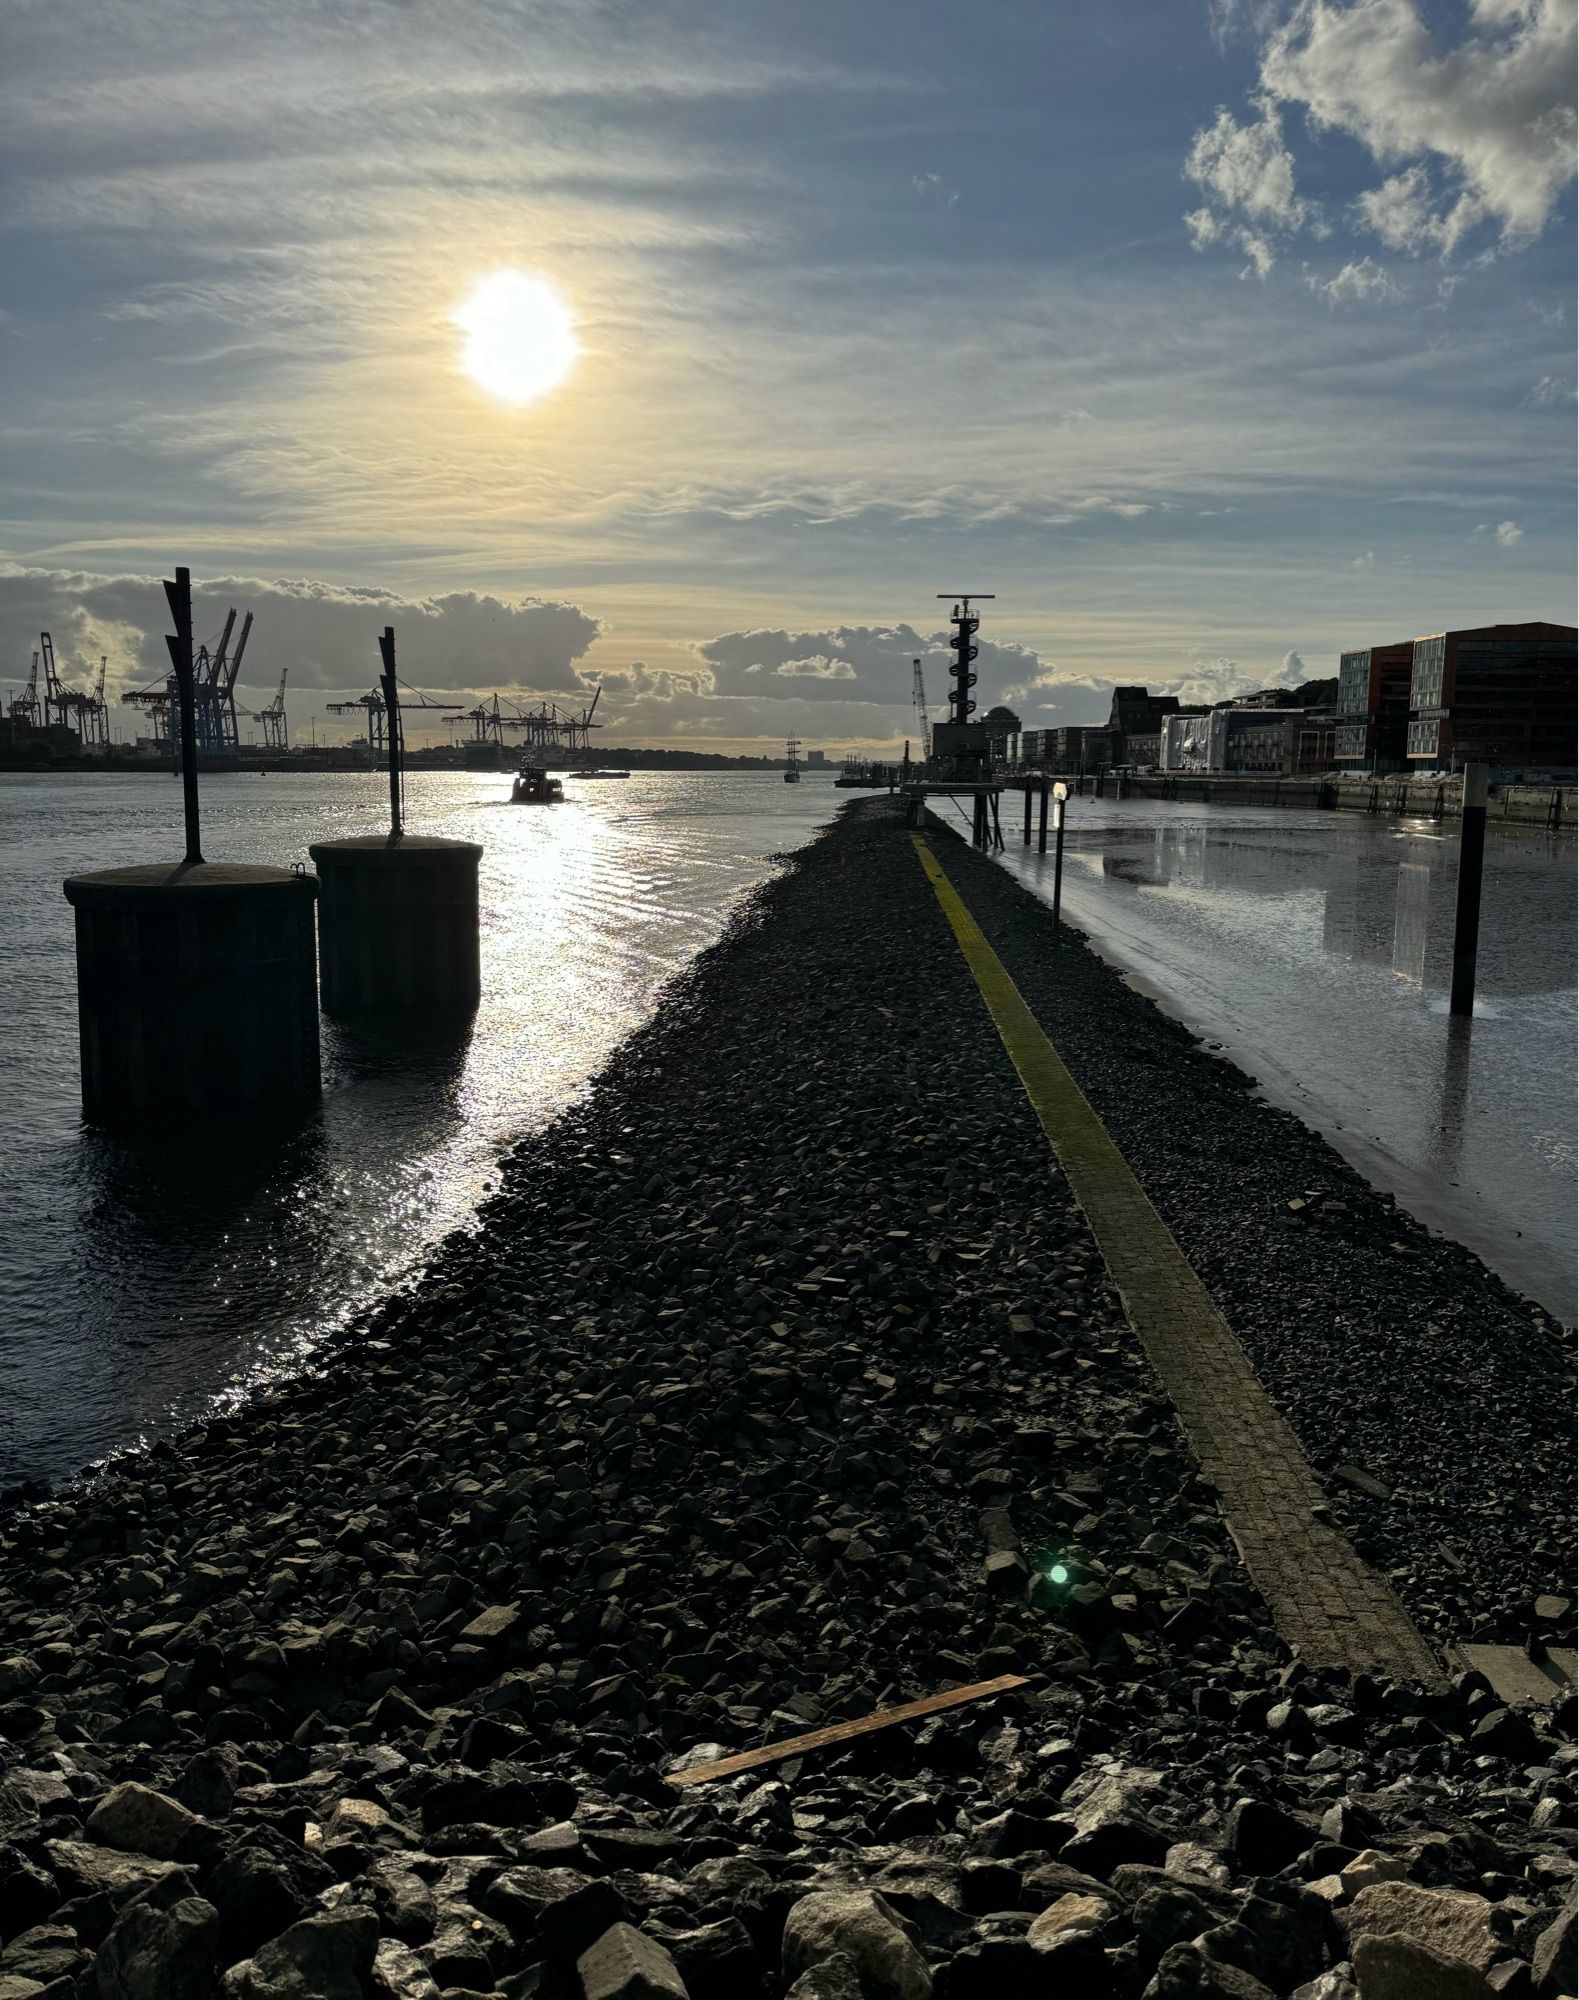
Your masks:
M1359 198L1389 248L1449 252L1483 220L1519 244L1573 178L1575 52L1573 0L1471 0L1447 46L1415 0L1303 0L1261 88L1377 162L1415 162Z

